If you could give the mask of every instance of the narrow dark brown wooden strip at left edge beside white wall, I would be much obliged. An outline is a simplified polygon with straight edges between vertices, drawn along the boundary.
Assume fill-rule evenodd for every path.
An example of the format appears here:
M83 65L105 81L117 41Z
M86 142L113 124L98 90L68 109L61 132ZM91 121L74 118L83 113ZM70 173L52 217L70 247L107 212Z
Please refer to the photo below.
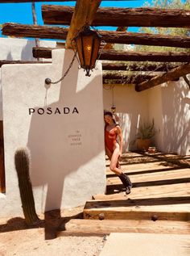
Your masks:
M3 122L0 120L0 192L6 192L6 174L4 162L4 140L3 140Z

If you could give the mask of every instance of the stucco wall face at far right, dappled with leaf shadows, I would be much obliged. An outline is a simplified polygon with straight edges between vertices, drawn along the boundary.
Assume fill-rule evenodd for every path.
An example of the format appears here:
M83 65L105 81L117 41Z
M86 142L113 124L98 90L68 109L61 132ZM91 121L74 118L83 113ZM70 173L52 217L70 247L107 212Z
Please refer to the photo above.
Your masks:
M168 95L169 102L168 102ZM188 85L180 83L163 87L163 141L164 152L189 154L190 106Z

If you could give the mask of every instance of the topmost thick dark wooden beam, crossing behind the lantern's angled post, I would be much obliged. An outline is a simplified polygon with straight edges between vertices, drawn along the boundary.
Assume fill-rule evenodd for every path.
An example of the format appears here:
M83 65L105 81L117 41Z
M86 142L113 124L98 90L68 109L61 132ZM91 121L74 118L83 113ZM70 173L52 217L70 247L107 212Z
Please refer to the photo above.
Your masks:
M43 22L69 25L74 8L42 6ZM99 8L93 26L190 27L190 10L158 8Z

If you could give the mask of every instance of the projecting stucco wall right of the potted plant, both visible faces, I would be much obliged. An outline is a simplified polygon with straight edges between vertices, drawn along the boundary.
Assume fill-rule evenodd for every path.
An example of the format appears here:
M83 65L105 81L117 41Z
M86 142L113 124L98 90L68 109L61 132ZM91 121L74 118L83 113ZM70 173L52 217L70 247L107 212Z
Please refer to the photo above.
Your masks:
M188 79L190 76L188 76ZM159 129L156 145L163 152L190 153L190 91L183 78L152 88L149 95L150 118Z

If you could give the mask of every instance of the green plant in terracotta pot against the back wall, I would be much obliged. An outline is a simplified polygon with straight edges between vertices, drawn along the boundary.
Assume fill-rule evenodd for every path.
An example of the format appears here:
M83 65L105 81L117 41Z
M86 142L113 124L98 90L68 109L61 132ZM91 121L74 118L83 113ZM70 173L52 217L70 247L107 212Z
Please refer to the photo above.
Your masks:
M137 132L137 149L147 151L151 146L152 138L155 136L155 122L140 122Z

